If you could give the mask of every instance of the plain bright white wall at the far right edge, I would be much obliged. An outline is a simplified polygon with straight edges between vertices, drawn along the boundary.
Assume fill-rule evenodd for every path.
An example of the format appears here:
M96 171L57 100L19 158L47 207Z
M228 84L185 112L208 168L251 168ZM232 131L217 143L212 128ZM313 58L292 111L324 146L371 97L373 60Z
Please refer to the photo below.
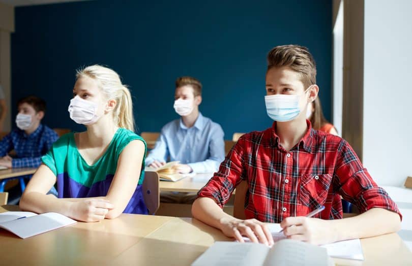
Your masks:
M412 1L365 0L363 163L379 185L412 176Z

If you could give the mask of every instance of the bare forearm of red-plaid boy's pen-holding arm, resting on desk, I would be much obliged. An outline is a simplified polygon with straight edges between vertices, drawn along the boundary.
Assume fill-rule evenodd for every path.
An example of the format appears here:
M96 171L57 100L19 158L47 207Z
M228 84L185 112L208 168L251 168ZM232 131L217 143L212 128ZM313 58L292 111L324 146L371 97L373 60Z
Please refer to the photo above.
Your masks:
M374 237L400 229L399 215L381 208L372 208L354 217L329 222L337 234L336 241Z

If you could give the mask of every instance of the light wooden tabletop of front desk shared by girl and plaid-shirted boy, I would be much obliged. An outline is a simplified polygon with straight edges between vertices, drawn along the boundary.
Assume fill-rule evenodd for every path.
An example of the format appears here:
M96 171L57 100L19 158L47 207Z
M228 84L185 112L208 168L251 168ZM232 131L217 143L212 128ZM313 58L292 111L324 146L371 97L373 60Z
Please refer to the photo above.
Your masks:
M4 265L190 265L215 241L232 240L193 218L122 214L25 240L0 229L0 261ZM412 254L397 234L361 242L364 261L335 259L336 264L412 264Z

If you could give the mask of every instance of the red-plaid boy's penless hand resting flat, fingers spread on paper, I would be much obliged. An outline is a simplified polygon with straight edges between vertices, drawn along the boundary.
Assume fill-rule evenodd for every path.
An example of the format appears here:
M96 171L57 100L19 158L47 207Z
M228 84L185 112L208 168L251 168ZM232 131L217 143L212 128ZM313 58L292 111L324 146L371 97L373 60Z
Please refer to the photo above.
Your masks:
M253 243L273 245L273 237L268 226L256 219L240 220L236 218L222 218L220 229L226 237L235 238L244 243L242 236L248 237Z

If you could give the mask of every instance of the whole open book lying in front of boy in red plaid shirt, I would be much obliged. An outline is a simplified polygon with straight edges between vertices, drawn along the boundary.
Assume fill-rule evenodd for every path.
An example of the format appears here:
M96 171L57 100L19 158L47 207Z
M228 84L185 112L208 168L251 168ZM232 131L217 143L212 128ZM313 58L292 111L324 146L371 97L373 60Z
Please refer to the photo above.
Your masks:
M192 266L330 266L326 249L296 240L280 240L268 247L256 243L215 242Z

